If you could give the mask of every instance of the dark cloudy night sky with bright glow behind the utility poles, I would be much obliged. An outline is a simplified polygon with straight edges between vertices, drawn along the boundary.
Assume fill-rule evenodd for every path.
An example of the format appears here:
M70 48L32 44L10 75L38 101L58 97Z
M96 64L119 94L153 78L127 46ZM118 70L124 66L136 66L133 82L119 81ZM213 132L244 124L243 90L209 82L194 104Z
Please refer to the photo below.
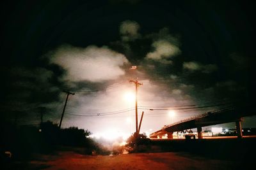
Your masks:
M254 15L248 1L1 4L1 121L38 125L43 113L58 124L66 90L75 95L63 127L131 134L134 101L124 96L134 94L129 80L137 78L141 132L254 101ZM168 116L189 106L212 107ZM243 127L256 127L256 118Z

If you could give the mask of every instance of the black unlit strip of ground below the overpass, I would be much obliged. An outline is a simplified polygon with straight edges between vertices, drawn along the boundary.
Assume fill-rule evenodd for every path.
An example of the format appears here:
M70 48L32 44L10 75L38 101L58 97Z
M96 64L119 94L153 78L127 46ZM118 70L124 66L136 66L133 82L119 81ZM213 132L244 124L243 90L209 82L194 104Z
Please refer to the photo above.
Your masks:
M151 141L151 145L168 152L189 152L209 159L234 160L248 164L256 155L256 138L212 138L196 140Z

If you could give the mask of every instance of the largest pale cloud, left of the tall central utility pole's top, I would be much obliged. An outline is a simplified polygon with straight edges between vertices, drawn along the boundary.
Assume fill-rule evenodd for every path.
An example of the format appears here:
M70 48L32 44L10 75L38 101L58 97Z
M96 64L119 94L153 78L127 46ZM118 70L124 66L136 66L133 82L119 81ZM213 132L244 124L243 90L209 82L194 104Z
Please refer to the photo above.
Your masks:
M125 74L121 67L128 63L123 54L106 46L93 45L86 48L61 46L53 53L50 60L51 63L58 64L67 71L64 80L92 82L115 80Z

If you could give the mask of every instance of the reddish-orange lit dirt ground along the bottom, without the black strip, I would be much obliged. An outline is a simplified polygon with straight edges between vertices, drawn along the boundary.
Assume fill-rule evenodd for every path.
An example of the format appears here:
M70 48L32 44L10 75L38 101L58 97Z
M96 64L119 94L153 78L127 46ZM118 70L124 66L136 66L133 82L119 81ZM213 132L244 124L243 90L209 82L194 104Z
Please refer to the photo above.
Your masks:
M214 160L190 153L132 153L125 155L81 155L60 152L58 155L36 155L24 169L245 169L233 160ZM19 167L16 164L16 167ZM247 169L247 168L246 168Z

